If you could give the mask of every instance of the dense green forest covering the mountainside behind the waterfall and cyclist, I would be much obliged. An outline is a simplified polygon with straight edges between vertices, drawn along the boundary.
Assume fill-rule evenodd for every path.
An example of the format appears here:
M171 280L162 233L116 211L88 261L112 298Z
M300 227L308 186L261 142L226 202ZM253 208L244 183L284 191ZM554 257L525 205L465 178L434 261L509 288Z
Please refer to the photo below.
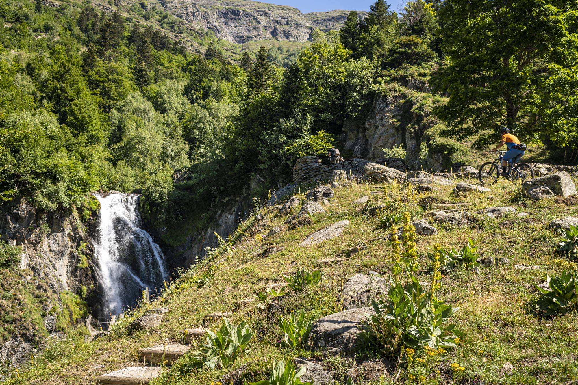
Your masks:
M575 160L577 5L410 0L397 14L378 0L340 31L314 30L305 49L232 60L90 2L6 0L0 197L56 210L90 191L142 190L155 221L177 221L283 184L295 158L323 153L392 84L440 95L446 136L481 147L507 125Z

